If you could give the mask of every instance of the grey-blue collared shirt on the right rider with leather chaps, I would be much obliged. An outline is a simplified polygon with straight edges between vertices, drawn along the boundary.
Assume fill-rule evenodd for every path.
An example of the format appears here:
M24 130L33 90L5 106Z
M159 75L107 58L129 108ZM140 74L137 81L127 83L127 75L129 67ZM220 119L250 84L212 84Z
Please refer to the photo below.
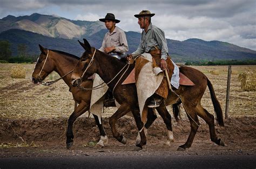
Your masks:
M168 56L168 47L164 31L150 23L147 32L143 30L139 47L132 53L132 55L141 55L142 53L154 50L156 49L154 46L161 50L161 59L166 60Z

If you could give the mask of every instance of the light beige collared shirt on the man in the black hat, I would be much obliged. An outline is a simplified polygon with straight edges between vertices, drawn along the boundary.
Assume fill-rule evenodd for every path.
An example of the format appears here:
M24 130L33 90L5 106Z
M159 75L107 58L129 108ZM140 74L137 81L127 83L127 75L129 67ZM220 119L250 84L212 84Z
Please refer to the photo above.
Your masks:
M112 33L108 31L105 34L102 47L99 50L105 52L104 49L111 46L116 48L116 50L114 50L112 53L118 53L120 57L125 57L125 52L129 50L126 35L124 31L117 26L114 28ZM111 53L109 54L111 55Z

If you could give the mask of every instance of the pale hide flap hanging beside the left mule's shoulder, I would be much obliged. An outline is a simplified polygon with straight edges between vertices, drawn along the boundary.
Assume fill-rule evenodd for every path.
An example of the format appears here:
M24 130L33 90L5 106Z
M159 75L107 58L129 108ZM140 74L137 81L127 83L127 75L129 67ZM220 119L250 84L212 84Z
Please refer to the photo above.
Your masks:
M95 73L95 77L93 78L92 87L98 86L99 84L102 84L103 82L104 81L102 80L102 78L100 78L99 75ZM105 85L105 83L100 86L103 86L103 85ZM100 124L102 123L102 121L100 119L102 117L103 106L104 106L104 104L103 104L104 94L106 93L107 89L109 89L109 87L106 85L99 89L92 90L90 112L92 114L95 114L96 116L98 116Z

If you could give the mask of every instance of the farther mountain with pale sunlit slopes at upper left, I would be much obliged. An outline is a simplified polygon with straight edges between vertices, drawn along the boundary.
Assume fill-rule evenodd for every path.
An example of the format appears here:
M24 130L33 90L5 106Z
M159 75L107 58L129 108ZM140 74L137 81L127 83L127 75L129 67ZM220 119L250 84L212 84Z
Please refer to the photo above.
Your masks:
M0 19L0 32L9 29L21 29L44 36L59 38L81 38L105 29L102 22L72 21L58 16L33 13L30 16L8 15Z

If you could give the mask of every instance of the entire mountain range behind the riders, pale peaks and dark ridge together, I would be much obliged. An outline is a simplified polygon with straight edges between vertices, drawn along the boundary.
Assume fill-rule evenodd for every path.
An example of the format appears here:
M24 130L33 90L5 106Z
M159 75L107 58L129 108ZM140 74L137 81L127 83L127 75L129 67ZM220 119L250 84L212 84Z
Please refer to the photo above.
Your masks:
M17 55L18 44L26 44L29 54L40 53L38 44L45 48L61 50L80 56L83 48L77 42L86 38L91 46L100 48L105 33L103 22L72 21L58 16L33 13L30 16L8 15L0 19L0 40L11 43L12 55ZM131 53L138 48L140 33L125 32ZM256 59L256 51L213 40L201 39L184 41L166 39L169 55L176 62L185 60Z

